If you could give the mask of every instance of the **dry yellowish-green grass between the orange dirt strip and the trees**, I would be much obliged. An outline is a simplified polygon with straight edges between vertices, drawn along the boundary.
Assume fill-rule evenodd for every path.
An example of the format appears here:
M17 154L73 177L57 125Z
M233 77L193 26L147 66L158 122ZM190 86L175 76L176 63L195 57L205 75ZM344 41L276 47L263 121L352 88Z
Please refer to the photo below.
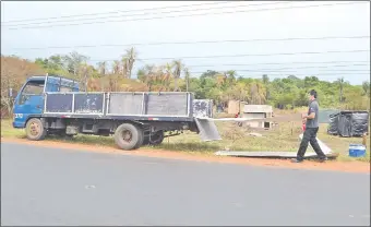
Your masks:
M277 151L277 152L297 152L299 146L299 134L301 133L300 124L280 123L279 127L272 130L249 130L246 127L237 127L231 122L217 122L222 141L203 142L199 135L191 132L184 132L181 135L166 138L159 146L143 146L142 150L167 150L177 152L187 152L192 154L212 155L220 150L230 151ZM263 136L249 135L250 132L258 132ZM24 130L13 129L10 120L1 121L1 136L4 138L25 138ZM342 162L370 162L370 140L368 140L367 156L360 158L348 157L348 146L351 143L362 143L361 138L339 138L326 133L326 126L321 126L318 138L338 153L338 160ZM97 146L112 146L115 141L111 136L96 135L77 135L73 139L61 139L48 136L51 141L67 141L70 143L91 144Z

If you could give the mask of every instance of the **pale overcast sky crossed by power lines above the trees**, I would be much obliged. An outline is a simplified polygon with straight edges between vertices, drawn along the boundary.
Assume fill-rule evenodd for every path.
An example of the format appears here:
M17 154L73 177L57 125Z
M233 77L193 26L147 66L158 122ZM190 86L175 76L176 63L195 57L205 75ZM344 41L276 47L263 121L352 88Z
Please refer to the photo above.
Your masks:
M1 1L2 55L77 51L96 64L120 60L132 44L134 72L181 59L194 76L236 70L361 84L370 80L370 2Z

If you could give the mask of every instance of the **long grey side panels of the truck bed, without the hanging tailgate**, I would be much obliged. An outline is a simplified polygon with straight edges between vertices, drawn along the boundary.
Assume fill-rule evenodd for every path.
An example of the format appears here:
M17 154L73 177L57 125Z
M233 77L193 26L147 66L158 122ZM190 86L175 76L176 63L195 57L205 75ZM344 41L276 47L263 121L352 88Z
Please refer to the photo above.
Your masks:
M193 94L46 93L45 116L193 121Z

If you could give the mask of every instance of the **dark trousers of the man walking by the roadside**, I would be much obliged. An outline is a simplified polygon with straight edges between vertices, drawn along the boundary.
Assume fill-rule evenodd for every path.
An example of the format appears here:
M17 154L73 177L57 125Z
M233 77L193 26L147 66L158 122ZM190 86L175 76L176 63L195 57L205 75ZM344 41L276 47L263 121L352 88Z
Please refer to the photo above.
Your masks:
M308 148L308 143L311 143L314 152L321 159L325 159L326 155L322 152L319 142L316 141L316 133L319 131L319 128L307 128L304 131L304 134L302 136L300 147L297 154L297 159L302 160L304 158L306 151Z

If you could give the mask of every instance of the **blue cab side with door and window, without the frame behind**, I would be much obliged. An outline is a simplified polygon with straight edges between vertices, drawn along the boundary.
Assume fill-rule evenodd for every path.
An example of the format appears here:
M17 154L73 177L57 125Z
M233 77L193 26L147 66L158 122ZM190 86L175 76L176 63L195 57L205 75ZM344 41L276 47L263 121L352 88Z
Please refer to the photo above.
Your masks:
M28 81L14 103L14 128L24 128L27 119L40 116L44 108L44 81Z

